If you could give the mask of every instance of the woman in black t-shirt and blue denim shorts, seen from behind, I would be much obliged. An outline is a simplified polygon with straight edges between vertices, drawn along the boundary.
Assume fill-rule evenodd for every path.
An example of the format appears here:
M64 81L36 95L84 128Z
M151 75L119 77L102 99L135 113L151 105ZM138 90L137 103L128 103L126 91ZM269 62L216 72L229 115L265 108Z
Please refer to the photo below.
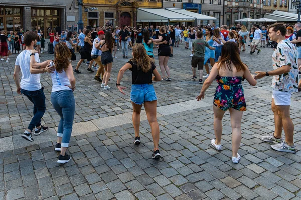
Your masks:
M143 45L133 46L133 58L130 59L119 71L117 78L117 88L125 95L120 86L121 79L126 70L132 71L132 90L130 92L130 99L133 105L133 126L135 129L134 144L140 144L140 113L142 105L146 111L147 119L152 131L154 142L153 159L161 157L159 152L159 125L157 122L157 96L152 84L153 81L160 81L160 74L158 73L153 60L148 57ZM154 74L155 76L152 76Z

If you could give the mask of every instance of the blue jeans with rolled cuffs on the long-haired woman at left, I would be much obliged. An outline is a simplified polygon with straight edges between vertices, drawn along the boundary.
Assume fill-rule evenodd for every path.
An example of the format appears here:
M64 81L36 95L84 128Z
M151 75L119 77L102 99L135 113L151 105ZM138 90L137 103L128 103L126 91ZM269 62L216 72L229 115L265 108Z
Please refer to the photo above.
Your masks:
M58 137L63 137L62 147L69 147L75 113L75 100L71 90L55 91L51 93L51 103L61 120L58 127Z

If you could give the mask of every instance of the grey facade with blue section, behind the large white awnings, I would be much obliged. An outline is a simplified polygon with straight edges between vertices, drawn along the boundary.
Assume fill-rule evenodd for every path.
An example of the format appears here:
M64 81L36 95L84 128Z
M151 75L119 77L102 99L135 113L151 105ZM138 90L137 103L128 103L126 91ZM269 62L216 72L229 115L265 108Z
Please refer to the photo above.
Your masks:
M217 27L222 25L223 21L223 0L164 0L163 8L182 8L191 12L204 14L216 18L213 20L198 20L198 25L213 24ZM193 25L187 22L186 25Z

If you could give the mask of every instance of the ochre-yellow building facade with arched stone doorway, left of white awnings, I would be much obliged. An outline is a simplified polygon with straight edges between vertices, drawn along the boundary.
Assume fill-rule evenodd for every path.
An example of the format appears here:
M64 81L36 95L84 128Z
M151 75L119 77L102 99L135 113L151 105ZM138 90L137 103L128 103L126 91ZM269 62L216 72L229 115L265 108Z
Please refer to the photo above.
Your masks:
M87 28L97 26L135 27L137 8L162 8L161 0L84 0L83 22Z

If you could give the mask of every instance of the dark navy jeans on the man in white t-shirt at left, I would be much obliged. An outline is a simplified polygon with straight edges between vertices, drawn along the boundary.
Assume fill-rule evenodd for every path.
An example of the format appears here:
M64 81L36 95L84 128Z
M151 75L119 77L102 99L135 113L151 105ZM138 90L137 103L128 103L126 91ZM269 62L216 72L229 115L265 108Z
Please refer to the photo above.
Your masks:
M28 129L32 131L35 127L41 125L41 118L46 111L44 88L37 91L27 91L21 89L21 93L24 94L32 103L34 103L34 117L28 125Z

